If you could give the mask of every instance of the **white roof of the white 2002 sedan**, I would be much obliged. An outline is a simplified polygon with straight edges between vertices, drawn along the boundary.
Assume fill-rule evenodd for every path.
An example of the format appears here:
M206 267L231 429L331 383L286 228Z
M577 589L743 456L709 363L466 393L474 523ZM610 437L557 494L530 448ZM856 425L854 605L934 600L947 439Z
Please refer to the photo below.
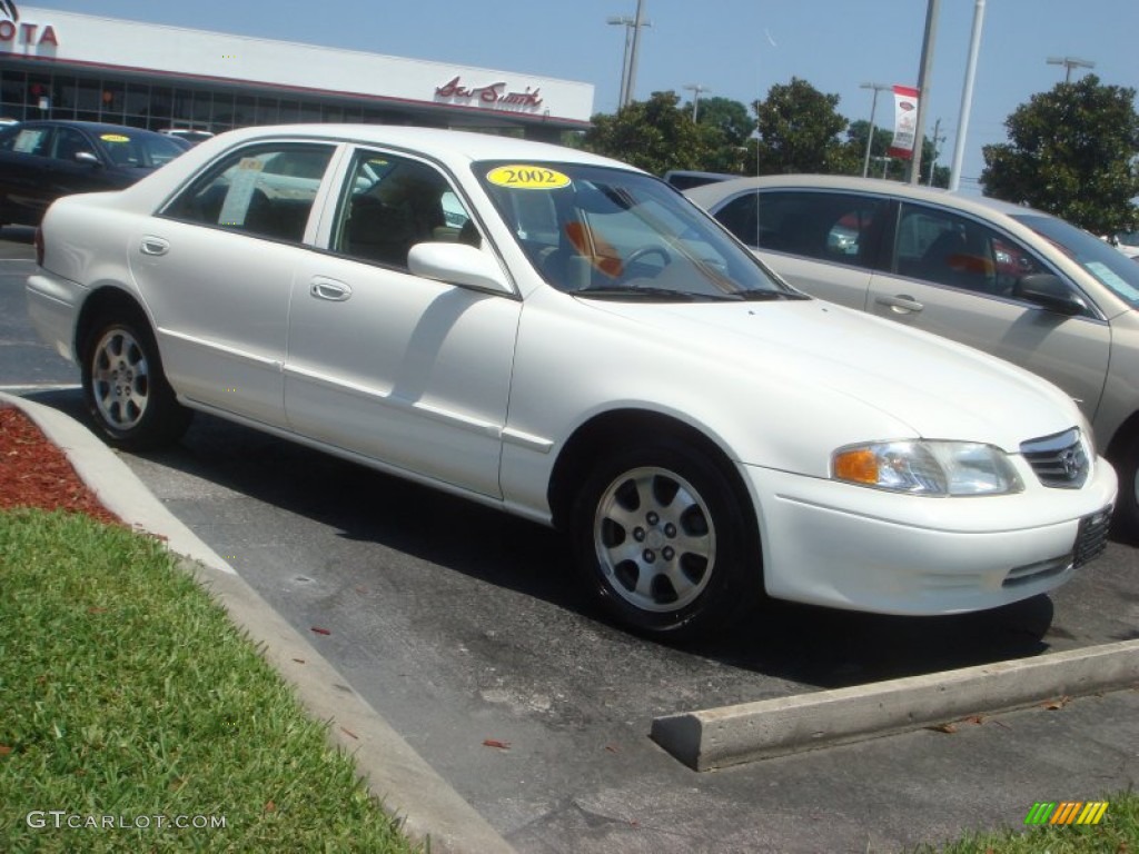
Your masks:
M407 148L441 161L557 161L601 166L620 166L631 170L624 163L601 157L575 148L535 142L515 137L498 137L490 133L452 131L441 128L416 128L390 124L288 124L241 128L219 133L198 146L211 150L214 146L230 147L235 143L261 138L312 138L372 143L385 147ZM210 147L210 148L207 148Z

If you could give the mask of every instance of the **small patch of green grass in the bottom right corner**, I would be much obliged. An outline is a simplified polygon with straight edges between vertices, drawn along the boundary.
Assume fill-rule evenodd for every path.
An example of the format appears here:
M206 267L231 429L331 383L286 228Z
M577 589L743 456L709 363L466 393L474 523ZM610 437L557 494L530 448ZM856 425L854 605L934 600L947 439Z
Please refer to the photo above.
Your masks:
M1128 790L1089 798L1108 802L1099 824L1060 824L973 834L916 854L1139 854L1139 795ZM1032 807L1024 805L1025 815Z

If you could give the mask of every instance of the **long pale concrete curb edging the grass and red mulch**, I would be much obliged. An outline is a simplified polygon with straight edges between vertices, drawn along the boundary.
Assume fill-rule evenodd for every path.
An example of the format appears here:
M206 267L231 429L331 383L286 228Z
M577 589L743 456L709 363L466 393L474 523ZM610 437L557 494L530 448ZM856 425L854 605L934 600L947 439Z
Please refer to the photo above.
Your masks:
M108 510L163 537L265 659L296 690L310 715L329 723L329 740L354 757L361 777L413 838L442 854L511 854L510 845L284 617L179 522L115 453L72 418L0 392L59 446Z

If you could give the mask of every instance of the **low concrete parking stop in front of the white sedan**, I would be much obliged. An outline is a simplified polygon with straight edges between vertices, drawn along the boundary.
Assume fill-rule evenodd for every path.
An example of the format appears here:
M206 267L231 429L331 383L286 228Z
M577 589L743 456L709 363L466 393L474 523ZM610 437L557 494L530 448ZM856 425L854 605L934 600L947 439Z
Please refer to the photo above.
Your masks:
M1136 683L1139 640L657 717L652 738L708 771Z

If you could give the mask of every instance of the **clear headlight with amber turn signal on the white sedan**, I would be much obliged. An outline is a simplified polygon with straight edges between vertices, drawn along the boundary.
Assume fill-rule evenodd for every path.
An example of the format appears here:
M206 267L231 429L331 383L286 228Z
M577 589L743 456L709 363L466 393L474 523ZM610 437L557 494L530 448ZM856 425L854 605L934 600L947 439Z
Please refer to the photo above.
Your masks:
M835 479L913 495L1006 495L1024 484L1005 452L976 442L872 442L835 451Z

